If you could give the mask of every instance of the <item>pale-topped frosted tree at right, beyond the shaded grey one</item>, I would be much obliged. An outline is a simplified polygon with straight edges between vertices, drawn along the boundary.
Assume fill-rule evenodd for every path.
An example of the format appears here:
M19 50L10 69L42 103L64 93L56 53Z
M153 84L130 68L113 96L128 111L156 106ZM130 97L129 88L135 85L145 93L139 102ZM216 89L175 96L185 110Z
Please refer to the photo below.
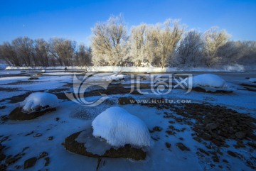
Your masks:
M205 62L208 67L218 64L218 49L228 42L230 35L226 31L218 31L218 27L210 28L203 35Z

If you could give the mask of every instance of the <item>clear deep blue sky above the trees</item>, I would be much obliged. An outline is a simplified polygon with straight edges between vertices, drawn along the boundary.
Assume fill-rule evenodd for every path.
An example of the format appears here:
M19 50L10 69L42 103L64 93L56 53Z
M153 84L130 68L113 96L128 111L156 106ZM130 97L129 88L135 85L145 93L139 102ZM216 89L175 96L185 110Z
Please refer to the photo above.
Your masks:
M256 40L256 0L1 0L0 43L19 36L61 37L89 45L97 21L122 13L128 28L181 19L188 29L226 29L233 40Z

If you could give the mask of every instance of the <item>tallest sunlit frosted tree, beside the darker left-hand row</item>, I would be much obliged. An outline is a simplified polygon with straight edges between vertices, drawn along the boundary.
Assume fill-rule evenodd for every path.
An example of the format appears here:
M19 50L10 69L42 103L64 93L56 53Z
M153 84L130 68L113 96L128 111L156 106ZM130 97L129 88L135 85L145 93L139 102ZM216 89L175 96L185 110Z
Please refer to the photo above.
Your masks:
M111 16L92 28L94 65L122 65L127 59L127 28L121 15Z

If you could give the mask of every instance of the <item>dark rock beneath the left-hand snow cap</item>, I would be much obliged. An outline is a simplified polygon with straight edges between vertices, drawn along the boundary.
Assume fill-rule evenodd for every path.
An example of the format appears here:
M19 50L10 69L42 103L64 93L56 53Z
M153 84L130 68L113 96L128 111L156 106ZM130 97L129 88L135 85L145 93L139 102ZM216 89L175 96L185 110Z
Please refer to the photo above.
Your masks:
M47 114L50 111L55 111L55 110L56 110L55 108L51 108L51 109L45 109L43 111L34 111L30 114L27 114L27 113L23 113L21 107L17 107L13 111L11 111L11 113L9 114L9 118L15 121L31 120L34 118L38 118L39 116L42 116L44 114Z

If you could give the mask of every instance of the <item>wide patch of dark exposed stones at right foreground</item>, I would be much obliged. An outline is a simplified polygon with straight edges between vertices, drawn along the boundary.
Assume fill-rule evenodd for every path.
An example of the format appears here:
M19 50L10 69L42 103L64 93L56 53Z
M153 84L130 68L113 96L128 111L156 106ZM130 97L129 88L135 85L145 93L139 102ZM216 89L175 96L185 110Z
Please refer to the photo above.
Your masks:
M168 104L162 104L168 105ZM242 140L256 140L256 119L250 114L240 114L238 111L227 109L225 106L210 104L176 104L173 106L176 114L183 116L182 123L196 120L193 131L199 138L210 140L215 145L226 146L227 139L241 141L236 148L243 147Z

